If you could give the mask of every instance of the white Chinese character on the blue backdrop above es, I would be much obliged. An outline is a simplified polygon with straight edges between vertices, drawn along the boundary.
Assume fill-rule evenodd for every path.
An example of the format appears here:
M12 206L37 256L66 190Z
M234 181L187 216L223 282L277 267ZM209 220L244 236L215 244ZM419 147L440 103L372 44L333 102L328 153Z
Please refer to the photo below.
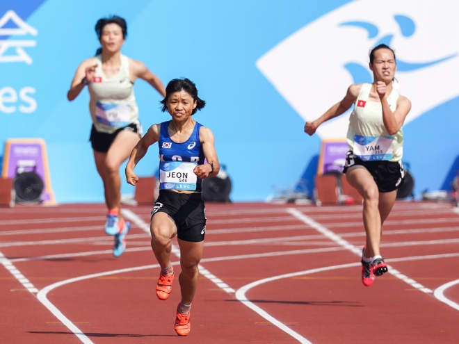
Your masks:
M3 26L9 21L13 22L17 28L3 28ZM19 15L15 13L14 10L8 10L3 17L0 18L0 36L2 35L38 35L37 29L33 28L24 20L22 20ZM0 63L6 62L25 62L28 65L31 65L32 58L24 51L24 47L35 47L37 42L35 40L0 40ZM4 56L3 54L9 48L16 48L16 55Z

